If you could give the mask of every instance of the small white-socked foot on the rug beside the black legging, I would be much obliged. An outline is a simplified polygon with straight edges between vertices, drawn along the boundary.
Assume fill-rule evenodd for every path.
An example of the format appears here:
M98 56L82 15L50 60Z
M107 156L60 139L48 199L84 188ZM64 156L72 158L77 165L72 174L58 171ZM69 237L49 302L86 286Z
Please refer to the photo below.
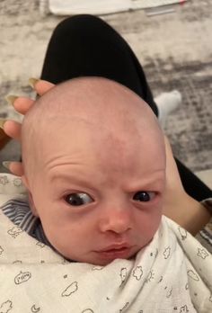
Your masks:
M159 94L154 100L158 108L159 122L164 127L167 116L181 105L181 93L178 90L172 90L170 93Z

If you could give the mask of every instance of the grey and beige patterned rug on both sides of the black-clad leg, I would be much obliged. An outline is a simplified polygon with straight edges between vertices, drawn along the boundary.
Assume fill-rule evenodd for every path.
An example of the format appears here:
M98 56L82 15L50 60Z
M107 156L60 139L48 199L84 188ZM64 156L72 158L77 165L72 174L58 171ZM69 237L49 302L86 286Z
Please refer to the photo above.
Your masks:
M174 154L212 187L212 2L188 1L174 13L143 10L104 15L137 54L155 95L178 89L181 107L165 125ZM39 77L50 34L64 17L39 11L39 0L0 1L0 117L20 119L6 94L31 94L28 78ZM19 156L9 144L1 160ZM2 168L0 168L2 170Z

